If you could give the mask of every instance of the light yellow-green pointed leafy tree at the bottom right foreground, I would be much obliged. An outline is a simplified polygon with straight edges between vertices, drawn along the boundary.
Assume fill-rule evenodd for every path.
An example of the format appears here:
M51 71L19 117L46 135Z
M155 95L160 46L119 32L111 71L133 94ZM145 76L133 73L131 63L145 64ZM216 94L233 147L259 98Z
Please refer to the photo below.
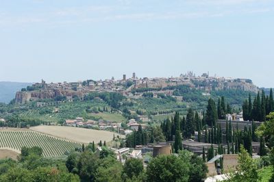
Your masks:
M240 147L236 172L232 172L229 181L260 181L256 162L250 157L243 146Z

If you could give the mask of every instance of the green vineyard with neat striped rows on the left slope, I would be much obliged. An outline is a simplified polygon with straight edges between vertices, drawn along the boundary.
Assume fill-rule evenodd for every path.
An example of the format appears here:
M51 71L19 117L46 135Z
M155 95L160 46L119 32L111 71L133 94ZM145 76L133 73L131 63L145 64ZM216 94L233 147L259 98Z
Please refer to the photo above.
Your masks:
M61 156L66 151L81 147L75 142L54 138L36 131L0 131L0 148L21 151L23 146L40 146L44 157Z

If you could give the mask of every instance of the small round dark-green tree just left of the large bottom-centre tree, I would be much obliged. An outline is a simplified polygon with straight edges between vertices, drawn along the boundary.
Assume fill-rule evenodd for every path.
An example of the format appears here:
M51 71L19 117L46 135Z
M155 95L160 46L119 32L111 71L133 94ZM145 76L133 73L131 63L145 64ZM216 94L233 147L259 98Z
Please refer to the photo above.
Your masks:
M127 159L125 165L123 166L123 176L127 179L132 179L137 177L144 172L144 167L140 159Z

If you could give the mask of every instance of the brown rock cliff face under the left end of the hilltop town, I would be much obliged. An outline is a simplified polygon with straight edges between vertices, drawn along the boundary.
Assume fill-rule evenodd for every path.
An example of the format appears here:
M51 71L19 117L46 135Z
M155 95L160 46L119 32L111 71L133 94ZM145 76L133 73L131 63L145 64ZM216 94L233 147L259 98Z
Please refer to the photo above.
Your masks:
M82 98L86 92L73 90L35 90L31 92L16 92L16 103L27 103L37 99L55 99L56 96L78 96Z

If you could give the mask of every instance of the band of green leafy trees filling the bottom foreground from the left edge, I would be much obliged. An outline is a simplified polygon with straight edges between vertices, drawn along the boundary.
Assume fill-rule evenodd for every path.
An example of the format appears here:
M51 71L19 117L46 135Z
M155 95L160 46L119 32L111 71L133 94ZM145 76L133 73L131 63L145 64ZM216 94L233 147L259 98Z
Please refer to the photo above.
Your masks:
M108 155L106 155L108 154ZM0 181L201 181L208 171L203 160L188 151L158 156L143 168L142 160L127 159L123 166L110 149L83 151L67 158L44 158L42 148L23 147L18 161L0 160Z

